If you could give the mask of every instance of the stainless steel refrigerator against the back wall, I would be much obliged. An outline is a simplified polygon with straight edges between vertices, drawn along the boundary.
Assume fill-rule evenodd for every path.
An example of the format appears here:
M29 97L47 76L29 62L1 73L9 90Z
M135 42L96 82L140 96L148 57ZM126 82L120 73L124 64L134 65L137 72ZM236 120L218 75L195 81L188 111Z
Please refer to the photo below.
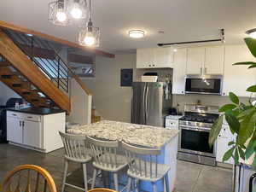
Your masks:
M133 82L131 123L164 127L172 107L172 84Z

